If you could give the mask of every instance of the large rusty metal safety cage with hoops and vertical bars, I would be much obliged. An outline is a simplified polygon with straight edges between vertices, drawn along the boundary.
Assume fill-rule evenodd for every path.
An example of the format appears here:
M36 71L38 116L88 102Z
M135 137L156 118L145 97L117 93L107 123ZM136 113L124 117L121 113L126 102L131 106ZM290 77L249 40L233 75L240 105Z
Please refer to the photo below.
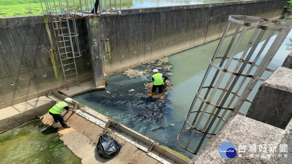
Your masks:
M210 64L177 137L179 144L193 154L199 152L205 138L211 139L212 136L216 135L233 115L245 115L245 113L239 111L240 108L244 102L252 102L247 98L255 84L258 81L265 80L265 78L262 78L264 71L273 72L267 66L292 28L292 20L285 23L245 15L230 15L228 20L228 25L214 56L210 59ZM273 26L263 25L266 22L273 23ZM230 26L237 26L237 28L228 47L222 51L220 49ZM254 32L252 36L245 36L249 27L254 27ZM239 32L240 30L242 31ZM268 35L264 35L266 32ZM272 45L266 47L274 32L279 33ZM242 42L244 37L249 37L248 43ZM260 47L259 43L262 39L266 39L266 41ZM245 49L240 58L236 58L235 55L238 53L237 50L241 44L244 45ZM257 46L259 46L259 49L256 49ZM223 56L219 56L221 52L225 52ZM221 59L218 65L214 64L216 59ZM209 74L210 70L214 68L216 69L215 74ZM212 80L206 80L209 78ZM228 80L226 82L222 79ZM203 97L202 94L200 95L201 92L204 94ZM197 101L198 99L200 101ZM196 103L198 106L200 104L198 109L194 109ZM208 115L206 121L202 121L204 115ZM186 126L190 128L187 129ZM195 133L202 135L197 147L191 144ZM189 138L185 139L187 137Z

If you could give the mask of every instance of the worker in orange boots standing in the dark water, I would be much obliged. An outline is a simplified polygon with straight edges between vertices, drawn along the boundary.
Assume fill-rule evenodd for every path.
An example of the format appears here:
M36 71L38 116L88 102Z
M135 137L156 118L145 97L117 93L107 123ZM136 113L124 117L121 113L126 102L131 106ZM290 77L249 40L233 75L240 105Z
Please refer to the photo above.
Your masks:
M152 72L154 73L152 75L153 86L152 86L151 94L149 94L149 96L153 98L154 93L158 87L158 92L159 92L158 100L159 100L162 98L163 84L165 80L167 79L167 76L165 76L162 73L158 73L157 69L152 70ZM164 77L164 80L163 80L163 77Z

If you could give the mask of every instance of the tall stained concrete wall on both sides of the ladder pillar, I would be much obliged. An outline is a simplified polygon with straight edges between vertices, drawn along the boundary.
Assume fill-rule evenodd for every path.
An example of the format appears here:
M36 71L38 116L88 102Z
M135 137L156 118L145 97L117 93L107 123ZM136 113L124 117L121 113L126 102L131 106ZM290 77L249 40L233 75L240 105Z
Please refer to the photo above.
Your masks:
M92 47L95 38L109 39L103 41L102 52L105 71L111 76L218 39L229 15L278 19L286 2L261 0L126 9L122 15L101 17L102 36L87 30L97 27L86 25L96 22L96 18L80 18L82 57L76 59L78 75L81 82L92 79L92 61L102 60L100 56L90 56L94 55L91 50L96 50ZM48 53L54 32L47 19L42 15L0 18L0 109L65 86L58 55Z

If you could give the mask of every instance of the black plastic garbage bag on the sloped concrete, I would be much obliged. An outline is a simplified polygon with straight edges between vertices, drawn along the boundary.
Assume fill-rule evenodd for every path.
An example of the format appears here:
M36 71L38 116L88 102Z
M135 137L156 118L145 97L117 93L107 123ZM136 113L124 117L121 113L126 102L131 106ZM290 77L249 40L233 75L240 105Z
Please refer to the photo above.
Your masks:
M115 152L121 149L122 145L118 143L114 138L107 134L102 134L96 145L98 154L103 158L112 157Z

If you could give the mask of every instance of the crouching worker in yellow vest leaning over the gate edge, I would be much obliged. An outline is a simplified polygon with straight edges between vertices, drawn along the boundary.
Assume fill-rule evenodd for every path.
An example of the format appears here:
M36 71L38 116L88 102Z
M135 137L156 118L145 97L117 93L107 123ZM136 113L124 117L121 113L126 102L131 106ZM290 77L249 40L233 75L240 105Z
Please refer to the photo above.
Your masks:
M61 101L59 103L57 103L56 105L54 105L52 108L50 108L49 110L49 114L53 116L54 121L55 122L60 122L60 124L64 127L64 128L70 128L70 125L67 125L64 121L63 116L61 115L61 113L64 110L68 110L68 111L73 111L75 112L75 110L72 110L71 108L69 108L69 105L72 102L72 99L67 97L64 99L65 101Z

